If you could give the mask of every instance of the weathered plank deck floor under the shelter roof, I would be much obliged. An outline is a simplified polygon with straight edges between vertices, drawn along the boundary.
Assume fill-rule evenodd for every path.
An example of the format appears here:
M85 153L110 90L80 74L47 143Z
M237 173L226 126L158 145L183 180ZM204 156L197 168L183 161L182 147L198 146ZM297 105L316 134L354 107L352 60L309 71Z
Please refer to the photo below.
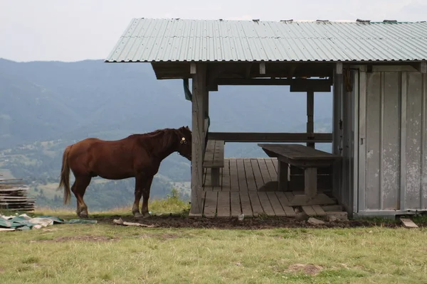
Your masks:
M290 200L299 191L278 191L276 158L225 158L220 169L219 186L211 186L211 169L204 170L205 217L295 217L304 211L309 216L324 216L327 211L342 211L331 198L325 206L291 206ZM322 192L321 190L319 190ZM330 198L330 197L327 197Z

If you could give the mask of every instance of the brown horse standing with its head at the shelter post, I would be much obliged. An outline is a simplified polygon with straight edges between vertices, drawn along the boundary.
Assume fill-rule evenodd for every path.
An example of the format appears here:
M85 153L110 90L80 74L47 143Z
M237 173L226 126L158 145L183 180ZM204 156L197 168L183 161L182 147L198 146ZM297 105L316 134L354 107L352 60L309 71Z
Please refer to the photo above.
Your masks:
M86 138L67 146L63 153L59 183L59 187L64 187L64 204L70 202L70 170L75 176L71 190L77 199L78 217L88 217L88 206L83 201L83 195L92 178L135 178L132 214L135 217L148 217L152 180L162 160L174 152L191 161L191 131L188 126L133 134L117 141ZM139 213L141 197L144 198L142 213Z

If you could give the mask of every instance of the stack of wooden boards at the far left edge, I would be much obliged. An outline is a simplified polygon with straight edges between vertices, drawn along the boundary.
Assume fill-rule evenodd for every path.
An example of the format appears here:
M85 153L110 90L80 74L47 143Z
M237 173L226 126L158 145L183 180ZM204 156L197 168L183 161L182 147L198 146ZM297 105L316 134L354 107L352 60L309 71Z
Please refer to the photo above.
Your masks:
M7 180L0 177L0 209L30 212L34 210L36 200L27 197L28 186L21 179Z

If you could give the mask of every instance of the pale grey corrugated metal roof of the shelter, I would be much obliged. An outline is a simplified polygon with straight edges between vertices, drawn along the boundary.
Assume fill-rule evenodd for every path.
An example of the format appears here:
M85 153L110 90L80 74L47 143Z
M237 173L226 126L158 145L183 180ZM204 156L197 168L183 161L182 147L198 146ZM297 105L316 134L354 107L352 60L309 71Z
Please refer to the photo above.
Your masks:
M417 61L426 46L426 22L134 18L105 61Z

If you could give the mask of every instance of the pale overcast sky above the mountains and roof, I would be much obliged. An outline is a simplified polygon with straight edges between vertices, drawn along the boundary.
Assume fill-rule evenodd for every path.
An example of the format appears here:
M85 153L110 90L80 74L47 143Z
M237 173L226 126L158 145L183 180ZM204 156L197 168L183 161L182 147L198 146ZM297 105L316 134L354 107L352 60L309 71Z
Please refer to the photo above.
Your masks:
M132 18L424 21L427 0L0 0L0 58L104 59Z

